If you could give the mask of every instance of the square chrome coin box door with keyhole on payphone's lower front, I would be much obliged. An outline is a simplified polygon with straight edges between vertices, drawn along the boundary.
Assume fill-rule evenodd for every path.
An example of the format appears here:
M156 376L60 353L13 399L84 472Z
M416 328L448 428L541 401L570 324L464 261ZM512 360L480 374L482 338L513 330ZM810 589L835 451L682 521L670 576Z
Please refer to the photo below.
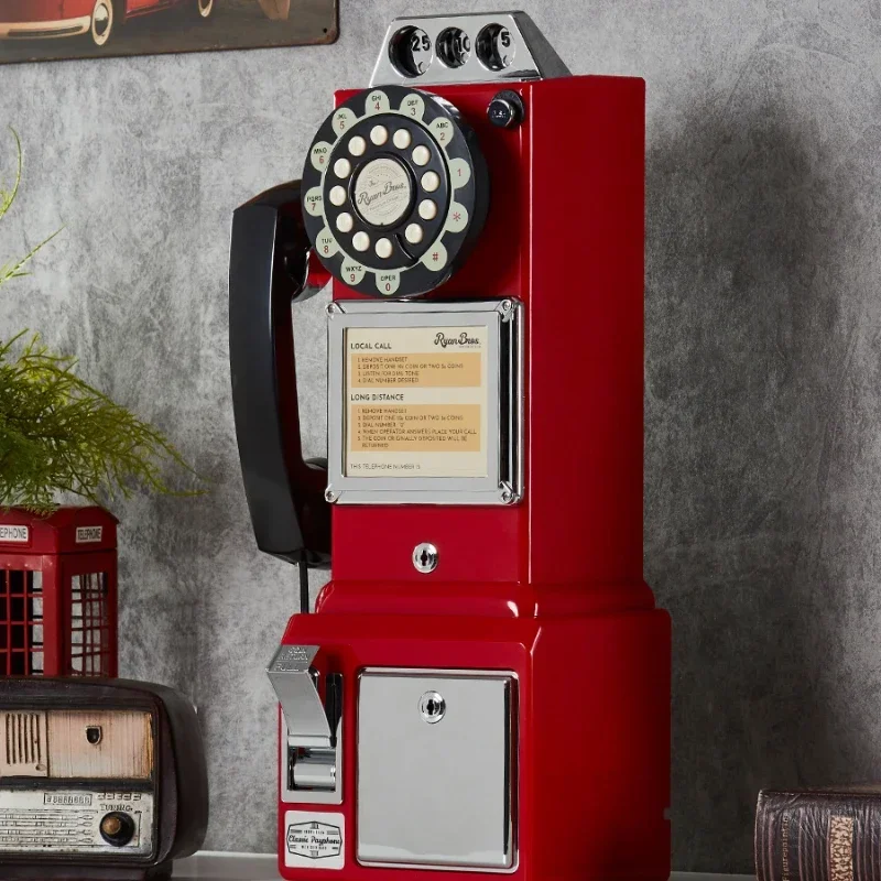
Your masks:
M361 674L359 862L513 871L515 685L493 672Z

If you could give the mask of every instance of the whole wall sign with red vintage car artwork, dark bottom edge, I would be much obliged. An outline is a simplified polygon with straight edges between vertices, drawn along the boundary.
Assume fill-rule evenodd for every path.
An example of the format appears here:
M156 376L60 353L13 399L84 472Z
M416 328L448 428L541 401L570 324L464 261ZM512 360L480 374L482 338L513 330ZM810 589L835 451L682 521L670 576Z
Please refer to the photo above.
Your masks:
M333 43L337 0L0 0L0 64Z

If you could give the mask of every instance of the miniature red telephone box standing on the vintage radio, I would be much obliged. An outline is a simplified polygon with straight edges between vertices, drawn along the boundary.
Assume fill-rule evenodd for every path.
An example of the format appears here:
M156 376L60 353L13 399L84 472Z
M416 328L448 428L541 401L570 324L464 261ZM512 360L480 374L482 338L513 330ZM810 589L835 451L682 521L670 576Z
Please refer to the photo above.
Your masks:
M116 518L0 512L0 676L116 675Z

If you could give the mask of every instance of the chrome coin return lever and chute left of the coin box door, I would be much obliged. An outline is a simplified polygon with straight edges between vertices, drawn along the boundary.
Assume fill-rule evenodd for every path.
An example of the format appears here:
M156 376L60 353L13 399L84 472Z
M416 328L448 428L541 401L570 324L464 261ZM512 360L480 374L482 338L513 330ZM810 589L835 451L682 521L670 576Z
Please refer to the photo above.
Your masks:
M284 715L287 792L337 794L342 676L325 675L322 700L320 674L312 666L317 653L317 645L282 645L267 673Z

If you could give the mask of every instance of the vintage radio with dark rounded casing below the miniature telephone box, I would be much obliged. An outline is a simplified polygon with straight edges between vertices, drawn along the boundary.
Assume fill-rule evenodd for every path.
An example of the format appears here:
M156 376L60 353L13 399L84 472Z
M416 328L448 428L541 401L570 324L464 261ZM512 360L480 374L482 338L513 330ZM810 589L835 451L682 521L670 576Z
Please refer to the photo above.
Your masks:
M205 838L193 705L127 679L0 679L0 878L167 878Z

